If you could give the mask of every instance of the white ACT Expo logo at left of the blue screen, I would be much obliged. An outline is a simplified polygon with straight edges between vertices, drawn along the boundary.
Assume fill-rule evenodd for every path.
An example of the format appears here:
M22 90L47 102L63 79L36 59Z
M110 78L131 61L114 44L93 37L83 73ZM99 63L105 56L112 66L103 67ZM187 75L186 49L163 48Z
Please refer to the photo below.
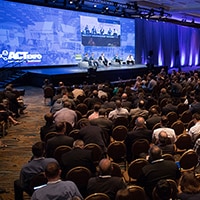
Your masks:
M8 52L7 50L3 50L0 54L0 58L2 58L4 61L8 62L41 62L42 55L39 53L29 53L26 51L17 51Z

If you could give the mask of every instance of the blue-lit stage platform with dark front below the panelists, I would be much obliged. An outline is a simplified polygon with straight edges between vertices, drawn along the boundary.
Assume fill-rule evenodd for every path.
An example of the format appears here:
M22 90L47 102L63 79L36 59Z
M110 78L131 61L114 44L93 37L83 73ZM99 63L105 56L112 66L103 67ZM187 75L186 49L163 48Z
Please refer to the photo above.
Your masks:
M57 85L59 81L63 81L66 85L83 84L87 82L101 83L101 82L116 82L123 80L134 80L138 75L143 76L149 72L157 74L164 66L155 66L153 69L149 69L144 64L135 65L118 65L109 67L101 67L94 70L92 68L80 68L78 65L74 66L49 66L43 68L27 68L23 69L27 73L24 84L29 83L33 86L41 87L44 79L48 78L54 85ZM165 67L168 73L172 70L178 71L178 68ZM199 67L182 67L182 71L188 72L198 70Z

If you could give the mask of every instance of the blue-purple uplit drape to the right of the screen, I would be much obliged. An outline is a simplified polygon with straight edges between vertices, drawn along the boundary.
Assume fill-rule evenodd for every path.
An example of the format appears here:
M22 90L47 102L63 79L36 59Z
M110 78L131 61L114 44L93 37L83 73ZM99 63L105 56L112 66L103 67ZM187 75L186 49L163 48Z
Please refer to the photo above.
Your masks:
M200 29L136 19L136 62L154 66L200 63Z

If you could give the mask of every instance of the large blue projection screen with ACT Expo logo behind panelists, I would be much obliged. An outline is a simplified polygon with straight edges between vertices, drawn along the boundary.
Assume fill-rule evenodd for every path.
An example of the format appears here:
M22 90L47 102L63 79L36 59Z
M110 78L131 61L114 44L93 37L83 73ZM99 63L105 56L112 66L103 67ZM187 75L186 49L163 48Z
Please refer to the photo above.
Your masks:
M135 21L0 0L0 67L70 66L85 53L135 57Z

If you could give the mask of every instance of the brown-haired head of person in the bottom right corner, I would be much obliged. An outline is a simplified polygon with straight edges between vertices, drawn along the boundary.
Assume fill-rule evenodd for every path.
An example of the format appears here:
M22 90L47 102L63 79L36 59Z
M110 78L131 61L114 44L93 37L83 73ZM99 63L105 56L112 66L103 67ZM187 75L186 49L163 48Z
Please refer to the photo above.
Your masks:
M186 171L180 178L181 191L194 194L200 192L200 180L195 176L194 171Z

